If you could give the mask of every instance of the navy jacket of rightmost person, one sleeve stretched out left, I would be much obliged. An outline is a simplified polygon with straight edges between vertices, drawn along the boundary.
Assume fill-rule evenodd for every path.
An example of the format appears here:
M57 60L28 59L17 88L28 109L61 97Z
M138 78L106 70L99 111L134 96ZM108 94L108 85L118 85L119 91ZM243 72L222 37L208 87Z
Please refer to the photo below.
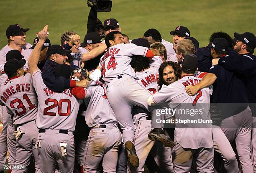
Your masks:
M227 59L221 57L218 64L229 71L243 75L249 105L253 116L256 117L256 56L246 53L230 56Z

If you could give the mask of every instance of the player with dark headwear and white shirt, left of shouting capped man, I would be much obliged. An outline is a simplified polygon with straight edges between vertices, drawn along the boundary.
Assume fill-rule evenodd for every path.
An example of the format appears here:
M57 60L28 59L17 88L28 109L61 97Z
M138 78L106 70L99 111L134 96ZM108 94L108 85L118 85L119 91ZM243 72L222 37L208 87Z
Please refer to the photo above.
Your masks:
M147 39L150 45L156 42L161 42L167 50L167 59L170 60L171 56L175 54L173 43L170 43L169 41L165 41L164 39L162 39L161 34L156 29L153 29L153 28L148 29L144 33L143 38ZM177 61L177 59L171 59L171 60L174 62Z

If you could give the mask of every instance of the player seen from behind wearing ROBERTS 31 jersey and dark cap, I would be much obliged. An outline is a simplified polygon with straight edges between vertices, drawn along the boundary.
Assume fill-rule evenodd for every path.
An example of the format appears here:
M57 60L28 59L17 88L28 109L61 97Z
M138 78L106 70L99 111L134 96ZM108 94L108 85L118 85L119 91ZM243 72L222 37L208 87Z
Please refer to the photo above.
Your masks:
M38 129L36 128L37 98L31 84L31 75L24 75L25 59L11 59L5 63L5 73L8 83L1 87L0 104L5 105L13 114L14 131L17 139L15 165L28 166L31 156L35 159L36 172L39 172L38 150L35 148ZM23 169L13 170L24 172Z

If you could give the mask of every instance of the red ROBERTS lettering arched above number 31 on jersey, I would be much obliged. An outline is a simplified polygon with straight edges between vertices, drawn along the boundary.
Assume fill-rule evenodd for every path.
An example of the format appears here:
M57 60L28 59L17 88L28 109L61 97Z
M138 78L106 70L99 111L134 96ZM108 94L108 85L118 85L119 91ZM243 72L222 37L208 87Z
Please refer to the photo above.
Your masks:
M18 92L29 92L30 87L32 87L31 84L16 84L10 86L9 88L5 89L5 92L3 92L1 100L6 103L7 99L9 99L9 97L11 97L13 94Z

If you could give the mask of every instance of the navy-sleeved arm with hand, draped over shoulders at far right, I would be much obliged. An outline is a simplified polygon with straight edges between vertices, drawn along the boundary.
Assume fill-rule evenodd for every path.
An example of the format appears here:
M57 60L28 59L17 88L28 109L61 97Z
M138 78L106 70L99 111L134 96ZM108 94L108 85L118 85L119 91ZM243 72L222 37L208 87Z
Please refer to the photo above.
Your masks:
M256 68L253 59L248 56L228 56L212 59L212 65L218 64L224 69L244 75L250 74Z

